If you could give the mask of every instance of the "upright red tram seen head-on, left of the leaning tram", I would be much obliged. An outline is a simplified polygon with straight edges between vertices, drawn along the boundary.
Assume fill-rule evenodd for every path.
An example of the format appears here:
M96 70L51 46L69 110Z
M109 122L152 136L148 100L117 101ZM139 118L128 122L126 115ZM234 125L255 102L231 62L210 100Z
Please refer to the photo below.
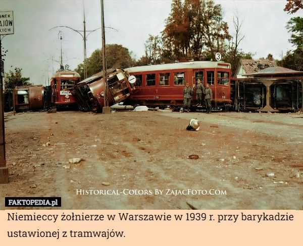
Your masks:
M51 107L77 108L77 102L70 89L80 82L80 75L72 71L58 71L51 78Z

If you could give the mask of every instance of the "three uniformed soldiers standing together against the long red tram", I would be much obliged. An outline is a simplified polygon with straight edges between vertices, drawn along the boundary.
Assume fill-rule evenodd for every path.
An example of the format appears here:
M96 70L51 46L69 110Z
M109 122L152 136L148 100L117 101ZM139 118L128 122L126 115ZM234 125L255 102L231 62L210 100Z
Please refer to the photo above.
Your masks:
M193 95L193 91L192 88L189 87L189 83L185 84L185 88L183 89L183 95L184 95L183 110L185 111L187 109L187 112L189 112L190 102ZM196 106L202 106L203 95L205 95L206 112L212 113L211 99L213 99L213 91L210 88L209 84L206 84L206 88L204 88L203 84L198 79L197 89L196 89L196 100L198 103Z

